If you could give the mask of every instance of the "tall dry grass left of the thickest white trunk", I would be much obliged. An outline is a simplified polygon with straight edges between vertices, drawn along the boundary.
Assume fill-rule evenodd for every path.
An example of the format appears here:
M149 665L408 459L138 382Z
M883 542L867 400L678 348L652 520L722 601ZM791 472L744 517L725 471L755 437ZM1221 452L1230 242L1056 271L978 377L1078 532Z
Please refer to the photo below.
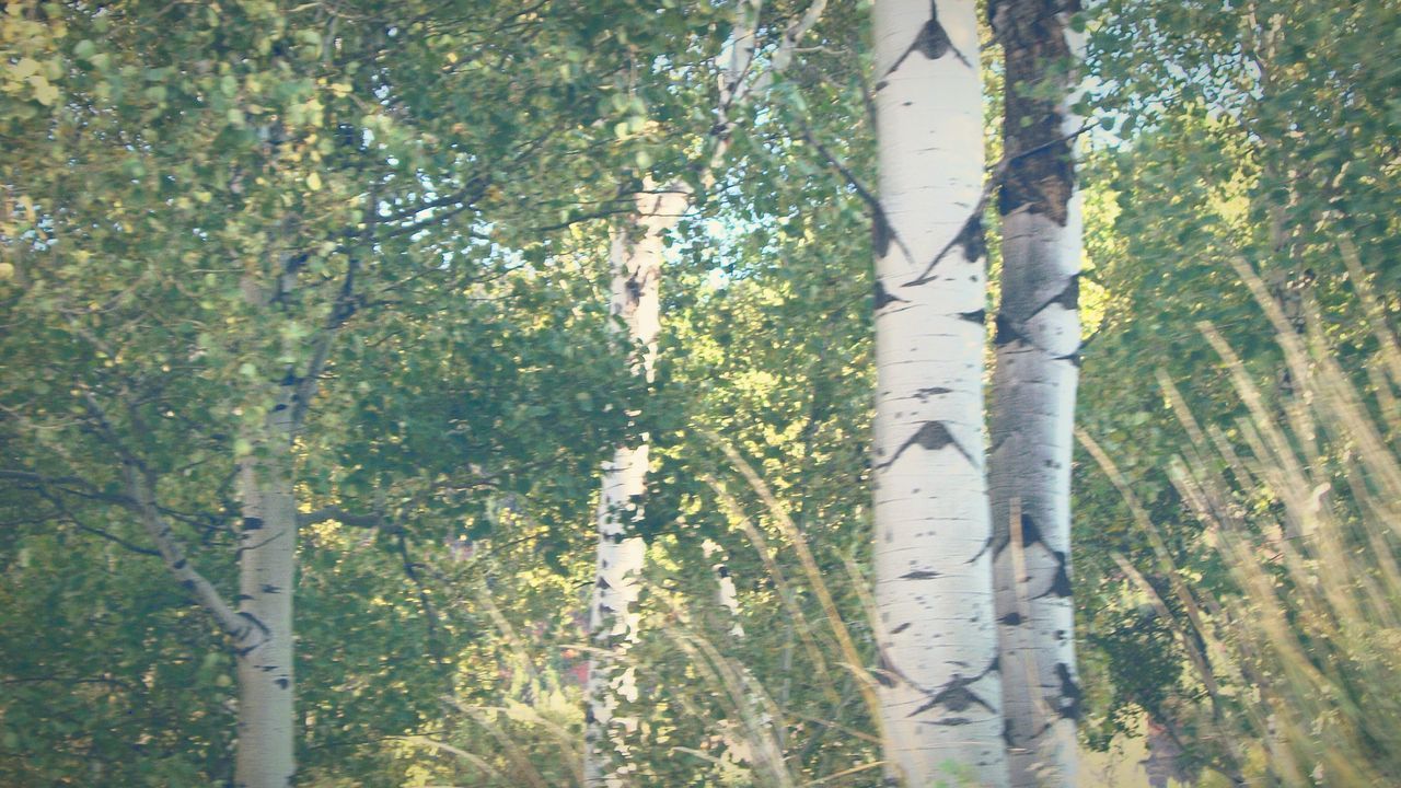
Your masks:
M808 543L786 506L738 451L706 435L720 457L700 480L731 530L726 551L757 566L741 592L743 627L717 595L716 578L650 551L643 587L642 642L623 670L639 687L619 716L633 785L752 788L846 787L883 782L876 732L876 677L869 579L852 555ZM492 565L488 565L488 564ZM444 698L453 732L398 745L423 785L483 788L581 785L583 681L559 655L581 659L594 646L580 630L528 632L506 610L535 593L513 566L521 555L454 565L441 582L483 630L476 665L500 665L495 681L478 670L464 694ZM499 576L495 587L481 575ZM475 579L474 579L475 578ZM558 600L556 600L558 604ZM737 634L743 631L744 634ZM567 662L567 660L566 660ZM483 687L493 690L483 691ZM474 694L475 693L475 694Z

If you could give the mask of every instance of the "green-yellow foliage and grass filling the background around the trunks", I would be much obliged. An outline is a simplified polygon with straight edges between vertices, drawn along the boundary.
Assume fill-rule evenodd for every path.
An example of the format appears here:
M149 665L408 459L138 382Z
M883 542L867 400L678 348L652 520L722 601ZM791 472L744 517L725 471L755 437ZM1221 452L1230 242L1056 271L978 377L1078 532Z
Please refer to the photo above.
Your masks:
M764 6L761 66L807 8ZM228 780L234 658L120 471L151 471L191 562L234 587L234 466L276 384L317 370L296 444L303 782L577 780L598 463L646 430L639 770L876 784L869 8L828 4L708 186L734 11L6 6L0 782ZM1192 768L1398 780L1401 80L1377 56L1398 14L1086 15L1094 747L1146 714ZM698 189L650 387L605 296L609 220L644 175Z

